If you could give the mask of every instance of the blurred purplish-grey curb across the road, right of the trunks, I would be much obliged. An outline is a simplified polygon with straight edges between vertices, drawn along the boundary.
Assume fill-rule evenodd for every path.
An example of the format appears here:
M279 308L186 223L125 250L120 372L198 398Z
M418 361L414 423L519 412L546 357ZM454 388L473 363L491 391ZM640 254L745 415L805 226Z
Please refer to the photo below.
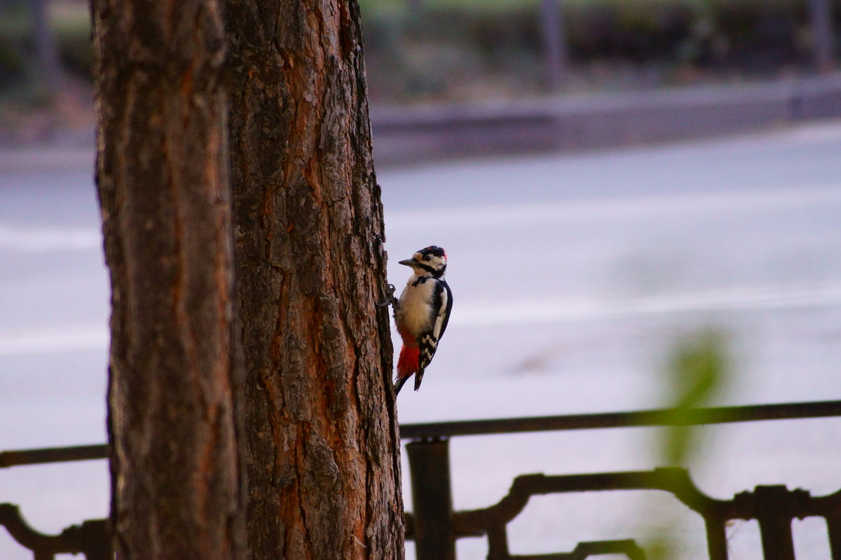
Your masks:
M841 73L728 87L373 108L374 161L397 164L711 138L841 117Z

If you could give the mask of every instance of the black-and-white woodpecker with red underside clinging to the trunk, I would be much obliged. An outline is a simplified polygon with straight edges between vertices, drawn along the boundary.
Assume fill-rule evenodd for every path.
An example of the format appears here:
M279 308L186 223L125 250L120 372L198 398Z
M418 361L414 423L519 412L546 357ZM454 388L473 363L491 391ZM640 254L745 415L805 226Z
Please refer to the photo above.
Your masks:
M452 310L452 292L444 280L447 253L441 247L428 246L400 264L411 267L412 275L394 306L397 332L403 339L397 361L395 396L413 373L415 391L421 388L423 372L435 356Z

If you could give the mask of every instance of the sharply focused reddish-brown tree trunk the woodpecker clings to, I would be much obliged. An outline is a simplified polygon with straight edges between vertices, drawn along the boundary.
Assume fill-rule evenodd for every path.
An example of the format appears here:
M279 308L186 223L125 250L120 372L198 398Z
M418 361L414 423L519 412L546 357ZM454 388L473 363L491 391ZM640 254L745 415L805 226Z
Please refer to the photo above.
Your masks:
M403 557L383 214L355 0L227 0L248 538Z

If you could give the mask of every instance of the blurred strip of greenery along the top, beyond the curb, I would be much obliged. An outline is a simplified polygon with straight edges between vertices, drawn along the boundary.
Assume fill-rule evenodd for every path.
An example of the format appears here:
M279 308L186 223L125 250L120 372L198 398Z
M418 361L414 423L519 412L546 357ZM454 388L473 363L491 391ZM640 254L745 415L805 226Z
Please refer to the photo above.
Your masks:
M838 0L361 0L374 108L831 71ZM85 0L0 0L0 141L91 131ZM380 119L375 119L380 120Z

